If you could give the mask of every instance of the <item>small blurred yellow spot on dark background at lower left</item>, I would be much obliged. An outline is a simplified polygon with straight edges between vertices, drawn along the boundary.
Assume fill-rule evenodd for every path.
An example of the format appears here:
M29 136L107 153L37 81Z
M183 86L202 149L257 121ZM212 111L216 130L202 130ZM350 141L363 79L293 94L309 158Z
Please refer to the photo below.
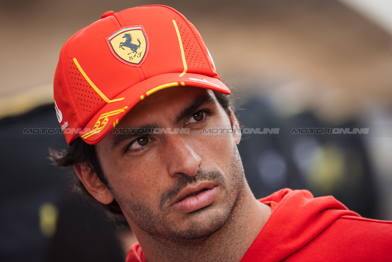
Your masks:
M51 238L56 233L58 210L51 203L43 203L39 209L41 233Z

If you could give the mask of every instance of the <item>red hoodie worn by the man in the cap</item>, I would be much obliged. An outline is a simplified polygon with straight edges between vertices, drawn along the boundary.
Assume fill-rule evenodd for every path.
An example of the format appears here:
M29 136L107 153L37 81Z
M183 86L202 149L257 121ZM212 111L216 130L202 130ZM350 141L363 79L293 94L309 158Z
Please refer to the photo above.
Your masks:
M362 218L333 196L281 189L261 198L272 214L240 262L392 261L392 222ZM145 262L138 243L126 262Z

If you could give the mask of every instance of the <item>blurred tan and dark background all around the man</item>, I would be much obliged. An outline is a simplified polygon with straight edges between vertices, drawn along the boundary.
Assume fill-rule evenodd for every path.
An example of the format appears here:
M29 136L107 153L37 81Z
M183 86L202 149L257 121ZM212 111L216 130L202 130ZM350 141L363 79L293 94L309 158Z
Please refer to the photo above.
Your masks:
M49 165L62 135L53 75L60 49L109 10L165 4L185 15L222 79L237 90L245 175L257 198L283 187L332 194L392 220L392 2L388 0L0 0L0 260L123 261L135 241L71 192ZM291 134L369 128L369 134Z

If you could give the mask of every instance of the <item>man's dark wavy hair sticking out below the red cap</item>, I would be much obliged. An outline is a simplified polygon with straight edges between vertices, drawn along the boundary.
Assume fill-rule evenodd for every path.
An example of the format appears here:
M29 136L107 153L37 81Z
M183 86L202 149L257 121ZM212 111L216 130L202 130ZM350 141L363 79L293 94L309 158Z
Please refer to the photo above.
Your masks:
M234 110L234 103L236 97L234 97L233 94L225 95L223 93L218 93L215 91L214 95L230 119L230 108ZM109 191L111 190L110 184L107 181L105 174L103 174L102 165L100 163L100 159L96 154L94 145L87 144L82 140L82 138L76 138L74 141L71 142L70 146L67 149L55 150L53 148L49 148L49 154L49 159L52 161L53 165L56 165L58 167L71 168L72 177L74 178L73 190L75 192L80 192L84 194L87 198L94 199L93 196L91 196L91 194L89 193L89 191L87 191L87 189L84 187L82 181L80 181L79 178L76 176L76 172L73 169L73 165L75 164L87 165L92 171L97 174L98 178L107 187L107 189L109 189ZM100 205L102 206L103 210L109 218L113 220L115 220L116 218L124 220L124 214L122 213L122 210L116 200L113 200L113 202L107 205L103 203L100 203Z

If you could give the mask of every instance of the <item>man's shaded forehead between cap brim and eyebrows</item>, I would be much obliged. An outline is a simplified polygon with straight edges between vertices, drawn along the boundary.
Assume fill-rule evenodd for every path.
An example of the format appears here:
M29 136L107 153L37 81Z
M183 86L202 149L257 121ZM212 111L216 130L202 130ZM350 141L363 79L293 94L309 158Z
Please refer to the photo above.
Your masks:
M120 121L121 125L142 126L149 122L169 124L174 122L176 114L203 100L218 103L214 93L205 88L178 86L160 90L146 97L129 111ZM162 117L164 116L164 117ZM161 123L160 123L161 122ZM165 122L165 123L162 123Z

